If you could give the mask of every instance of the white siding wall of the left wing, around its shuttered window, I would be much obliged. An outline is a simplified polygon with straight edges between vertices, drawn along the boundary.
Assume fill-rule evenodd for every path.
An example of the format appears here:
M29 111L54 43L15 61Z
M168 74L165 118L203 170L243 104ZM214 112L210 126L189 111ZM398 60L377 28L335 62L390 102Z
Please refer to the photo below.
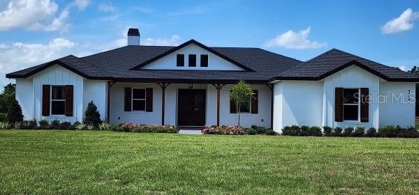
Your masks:
M43 85L73 86L73 116L42 116ZM16 99L22 106L25 120L82 121L87 102L94 100L102 118L105 117L107 81L91 81L61 67L52 65L35 75L16 79Z

